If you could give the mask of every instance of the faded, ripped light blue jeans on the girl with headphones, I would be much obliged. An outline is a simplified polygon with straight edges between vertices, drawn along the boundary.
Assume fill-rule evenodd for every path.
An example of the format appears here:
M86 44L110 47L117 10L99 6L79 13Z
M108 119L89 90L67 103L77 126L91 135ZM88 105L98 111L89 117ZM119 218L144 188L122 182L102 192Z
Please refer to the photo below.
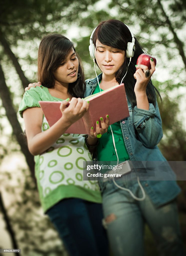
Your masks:
M137 181L115 180L142 197ZM147 223L157 242L161 256L183 256L178 211L175 200L155 208L148 195L136 201L129 192L118 188L112 180L100 182L103 196L104 224L114 256L143 256L144 224ZM169 193L169 191L167 191Z

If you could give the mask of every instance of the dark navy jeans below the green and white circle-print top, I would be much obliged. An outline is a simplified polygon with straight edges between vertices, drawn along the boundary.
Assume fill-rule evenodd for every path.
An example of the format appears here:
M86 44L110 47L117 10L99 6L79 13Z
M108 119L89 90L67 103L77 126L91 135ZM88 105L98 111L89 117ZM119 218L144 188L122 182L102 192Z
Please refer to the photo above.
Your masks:
M63 199L47 211L71 256L108 256L102 205L79 198Z

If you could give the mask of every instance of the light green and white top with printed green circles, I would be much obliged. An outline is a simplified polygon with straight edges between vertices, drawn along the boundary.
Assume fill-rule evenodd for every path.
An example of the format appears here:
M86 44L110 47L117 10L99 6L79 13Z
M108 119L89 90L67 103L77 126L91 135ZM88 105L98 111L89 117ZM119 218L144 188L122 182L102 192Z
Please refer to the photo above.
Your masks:
M36 87L26 91L19 113L40 107L38 101L62 101L52 97L48 88ZM49 129L43 116L42 132ZM101 203L97 181L83 180L83 161L92 160L83 134L63 134L48 150L34 157L41 204L44 212L64 198L81 198Z

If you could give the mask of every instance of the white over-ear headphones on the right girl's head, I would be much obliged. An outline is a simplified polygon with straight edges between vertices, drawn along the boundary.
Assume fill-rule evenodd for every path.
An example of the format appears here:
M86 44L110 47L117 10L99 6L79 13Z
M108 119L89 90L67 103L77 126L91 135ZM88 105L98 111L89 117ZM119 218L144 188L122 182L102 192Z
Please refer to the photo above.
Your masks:
M125 24L125 26L129 29L131 36L132 36L132 42L127 43L126 57L132 58L132 57L134 57L134 51L135 51L135 38L134 38L134 35L133 35L132 31L130 30L130 28L126 24ZM92 37L93 37L93 34L94 34L96 28L92 31L92 34L90 36L89 52L90 52L90 57L92 59L96 58L95 57L95 45L93 44L93 40L92 40Z

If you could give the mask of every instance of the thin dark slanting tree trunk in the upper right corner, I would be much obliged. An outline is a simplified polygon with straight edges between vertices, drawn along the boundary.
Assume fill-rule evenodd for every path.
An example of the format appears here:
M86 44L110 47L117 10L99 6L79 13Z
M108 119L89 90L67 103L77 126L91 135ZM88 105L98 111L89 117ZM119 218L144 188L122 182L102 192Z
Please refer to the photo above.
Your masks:
M181 57L182 57L183 63L184 63L184 65L185 65L185 70L186 70L186 57L185 57L184 50L183 50L183 43L180 41L180 39L178 38L176 32L174 31L174 29L173 29L173 27L172 27L172 24L171 24L171 22L170 22L170 20L169 20L169 17L168 17L167 14L165 13L164 8L163 8L163 6L162 6L160 0L158 0L158 4L159 4L159 6L160 6L160 8L161 8L161 10L162 10L162 12L163 12L165 18L166 18L166 23L169 25L169 28L170 28L170 30L171 30L171 32L172 32L172 34L173 34L174 41L175 41L175 43L177 44L177 47L178 47L178 50L179 50L179 54L180 54Z

